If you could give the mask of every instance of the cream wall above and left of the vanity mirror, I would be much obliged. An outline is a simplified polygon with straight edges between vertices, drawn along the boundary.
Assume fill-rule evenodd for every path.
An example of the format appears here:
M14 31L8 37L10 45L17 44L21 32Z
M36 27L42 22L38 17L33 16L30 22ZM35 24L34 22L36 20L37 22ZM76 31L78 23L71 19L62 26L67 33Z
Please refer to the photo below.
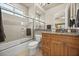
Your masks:
M55 28L55 18L65 14L66 4L61 4L46 11L45 21L47 24L53 25ZM65 15L64 15L65 16Z

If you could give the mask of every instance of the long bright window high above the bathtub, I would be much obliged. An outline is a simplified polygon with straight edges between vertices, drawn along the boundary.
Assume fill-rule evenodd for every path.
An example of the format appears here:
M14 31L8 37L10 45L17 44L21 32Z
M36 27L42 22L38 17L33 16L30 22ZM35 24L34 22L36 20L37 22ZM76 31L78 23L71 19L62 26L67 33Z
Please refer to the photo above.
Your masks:
M2 7L2 12L24 18L23 11L13 7L10 3L0 3L0 6Z

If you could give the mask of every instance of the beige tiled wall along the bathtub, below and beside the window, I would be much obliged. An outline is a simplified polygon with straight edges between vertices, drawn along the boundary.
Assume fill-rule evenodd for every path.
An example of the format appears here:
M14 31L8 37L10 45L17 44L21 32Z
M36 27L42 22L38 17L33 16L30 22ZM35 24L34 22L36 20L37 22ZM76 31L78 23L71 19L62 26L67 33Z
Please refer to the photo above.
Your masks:
M27 14L27 8L20 4L14 4L17 8ZM2 12L2 20L4 32L6 34L6 41L13 41L26 37L27 19L15 15L10 15Z

